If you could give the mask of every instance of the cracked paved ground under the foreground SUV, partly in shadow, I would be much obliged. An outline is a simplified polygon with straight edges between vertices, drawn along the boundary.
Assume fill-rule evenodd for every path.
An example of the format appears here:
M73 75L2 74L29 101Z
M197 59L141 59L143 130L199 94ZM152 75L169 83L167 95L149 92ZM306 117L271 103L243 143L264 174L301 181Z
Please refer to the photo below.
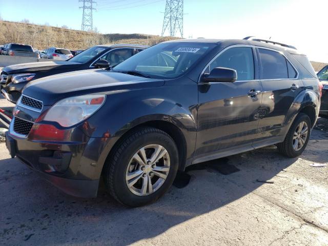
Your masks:
M328 164L327 119L299 158L269 147L228 163L240 171L190 171L187 187L130 209L104 187L95 199L63 194L1 143L0 245L328 245L328 166L310 166Z

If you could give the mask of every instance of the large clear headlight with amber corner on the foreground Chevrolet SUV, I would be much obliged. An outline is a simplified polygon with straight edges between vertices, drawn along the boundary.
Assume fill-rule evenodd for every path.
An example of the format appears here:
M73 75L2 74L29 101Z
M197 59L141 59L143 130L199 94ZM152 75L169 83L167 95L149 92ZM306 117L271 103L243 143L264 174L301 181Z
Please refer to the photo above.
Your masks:
M69 97L58 101L40 120L55 121L62 127L71 127L94 114L103 106L105 99L106 95Z

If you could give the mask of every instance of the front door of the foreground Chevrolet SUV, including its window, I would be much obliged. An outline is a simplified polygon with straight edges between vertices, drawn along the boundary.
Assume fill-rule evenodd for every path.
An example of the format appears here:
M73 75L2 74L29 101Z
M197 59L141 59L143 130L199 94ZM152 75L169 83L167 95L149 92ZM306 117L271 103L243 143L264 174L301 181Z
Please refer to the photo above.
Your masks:
M209 73L216 67L235 69L237 81L198 85L194 163L215 159L238 149L252 149L262 98L255 54L252 47L228 48L219 53L205 70Z

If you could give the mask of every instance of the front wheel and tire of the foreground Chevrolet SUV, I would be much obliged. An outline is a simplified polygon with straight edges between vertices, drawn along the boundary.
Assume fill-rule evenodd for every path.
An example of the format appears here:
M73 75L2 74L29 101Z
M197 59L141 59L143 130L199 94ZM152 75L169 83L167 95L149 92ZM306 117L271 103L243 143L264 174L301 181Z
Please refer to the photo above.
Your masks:
M144 152L140 152L142 148ZM151 162L151 157L155 157L156 153L159 153L158 157L165 154L157 162ZM146 161L142 161L144 159ZM140 165L141 162L144 164ZM168 170L166 165L169 165L169 171L158 171ZM174 140L166 132L147 127L137 129L120 142L108 158L103 176L111 196L126 206L140 207L163 196L172 186L177 170L178 151ZM140 176L140 173L144 176ZM130 179L135 174L138 175ZM166 177L160 178L158 175ZM136 183L131 186L136 179ZM146 179L151 180L151 185Z

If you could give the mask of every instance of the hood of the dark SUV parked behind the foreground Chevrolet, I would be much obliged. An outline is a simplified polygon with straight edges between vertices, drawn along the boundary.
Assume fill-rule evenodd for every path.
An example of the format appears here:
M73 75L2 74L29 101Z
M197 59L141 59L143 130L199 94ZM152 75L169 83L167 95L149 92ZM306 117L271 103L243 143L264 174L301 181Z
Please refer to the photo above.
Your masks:
M72 61L66 60L55 60L55 61L39 61L36 63L23 63L11 65L3 68L3 72L7 74L12 73L26 73L26 72L37 72L45 71L50 69L66 69L66 68L77 68L81 66L81 63L73 63Z

